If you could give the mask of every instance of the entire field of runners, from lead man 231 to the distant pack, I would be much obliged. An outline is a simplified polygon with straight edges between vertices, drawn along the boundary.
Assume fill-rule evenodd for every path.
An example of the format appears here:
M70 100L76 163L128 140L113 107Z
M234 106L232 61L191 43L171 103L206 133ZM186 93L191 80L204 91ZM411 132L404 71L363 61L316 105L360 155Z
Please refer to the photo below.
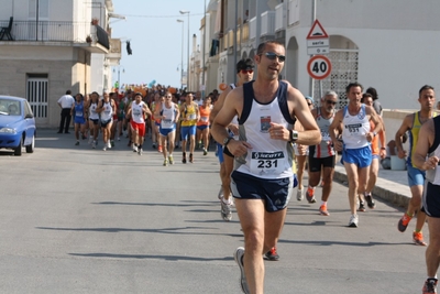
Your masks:
M78 94L72 107L76 144L80 135L89 137L95 149L101 131L103 150L111 149L114 138L120 140L127 130L129 146L142 155L144 138L150 134L153 148L163 153L164 166L175 163L173 152L179 145L184 164L194 162L196 149L206 155L212 133L220 162L221 217L231 220L235 206L244 233L244 247L234 252L244 293L263 293L263 258L279 259L276 244L296 185L297 200L305 195L310 204L317 202L316 187L321 186L318 209L320 215L330 216L328 202L340 160L349 182L349 227L356 228L359 213L376 207L372 190L380 161L387 155L385 124L374 88L364 92L361 84L351 83L345 89L346 106L338 110L338 94L329 90L315 108L312 97L278 79L285 58L283 44L260 44L253 59L237 64L237 81L219 97L216 94L201 99L199 92L178 96L166 88L152 89L146 97L105 91L101 98L97 92L90 97ZM437 293L440 260L440 202L435 197L440 190L440 140L435 135L440 119L431 119L437 115L435 99L431 86L421 87L420 110L408 115L394 135L398 156L407 159L413 194L397 228L405 231L417 213L413 240L427 246L421 229L427 216L429 219L428 279L422 293ZM408 153L403 144L406 134ZM307 188L302 185L306 165ZM425 171L429 171L428 177Z

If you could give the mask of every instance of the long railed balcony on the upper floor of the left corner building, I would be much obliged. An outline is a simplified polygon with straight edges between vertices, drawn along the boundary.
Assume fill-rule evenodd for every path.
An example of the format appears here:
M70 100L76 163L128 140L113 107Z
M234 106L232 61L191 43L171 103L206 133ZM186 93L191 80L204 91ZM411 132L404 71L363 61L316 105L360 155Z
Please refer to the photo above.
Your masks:
M0 26L8 26L8 22L0 21ZM108 53L110 48L108 33L89 22L14 21L11 34L13 41L9 42L67 42L94 53Z

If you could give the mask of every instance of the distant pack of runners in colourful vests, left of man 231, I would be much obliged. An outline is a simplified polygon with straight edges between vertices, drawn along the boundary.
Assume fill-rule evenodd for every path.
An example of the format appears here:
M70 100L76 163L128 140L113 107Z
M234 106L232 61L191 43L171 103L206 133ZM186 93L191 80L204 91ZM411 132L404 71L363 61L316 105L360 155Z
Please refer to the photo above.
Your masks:
M172 92L173 91L173 92ZM153 87L147 95L128 90L124 94L105 90L82 96L77 94L69 111L74 120L76 145L89 138L92 149L102 133L103 150L114 146L125 134L128 145L142 155L145 135L151 137L153 149L164 154L164 165L174 164L173 151L183 149L182 162L194 162L194 152L208 154L210 144L209 116L215 90L205 99L200 92L176 94L164 87ZM187 156L186 151L189 151Z

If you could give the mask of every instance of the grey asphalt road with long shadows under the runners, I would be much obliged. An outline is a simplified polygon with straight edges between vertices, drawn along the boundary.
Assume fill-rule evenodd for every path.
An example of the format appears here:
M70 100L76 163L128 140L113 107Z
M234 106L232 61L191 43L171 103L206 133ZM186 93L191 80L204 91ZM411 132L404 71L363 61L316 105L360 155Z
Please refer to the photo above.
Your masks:
M143 156L127 139L106 152L74 143L38 130L35 153L0 151L0 293L241 293L243 237L237 214L220 217L213 152L182 164L177 150L164 167L150 142ZM334 183L329 217L292 199L265 293L420 293L415 224L398 232L402 210L376 202L348 228L345 186Z

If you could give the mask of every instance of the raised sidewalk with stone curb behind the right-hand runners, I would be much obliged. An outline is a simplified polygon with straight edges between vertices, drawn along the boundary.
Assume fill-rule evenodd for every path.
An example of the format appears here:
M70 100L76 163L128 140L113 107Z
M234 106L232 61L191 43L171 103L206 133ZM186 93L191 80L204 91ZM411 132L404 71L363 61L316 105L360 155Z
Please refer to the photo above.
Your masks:
M334 167L334 179L346 182L345 168L340 163ZM376 186L373 189L373 196L406 208L411 198L411 192L408 187L407 172L383 170L381 167Z

